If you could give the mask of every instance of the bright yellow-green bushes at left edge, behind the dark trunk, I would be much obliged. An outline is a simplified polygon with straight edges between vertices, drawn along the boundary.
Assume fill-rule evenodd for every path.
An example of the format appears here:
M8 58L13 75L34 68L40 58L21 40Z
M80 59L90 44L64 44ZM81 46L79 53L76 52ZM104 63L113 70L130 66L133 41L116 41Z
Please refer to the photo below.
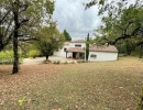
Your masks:
M20 54L20 63L22 62L23 57ZM13 63L13 52L6 51L0 52L0 64L12 64Z

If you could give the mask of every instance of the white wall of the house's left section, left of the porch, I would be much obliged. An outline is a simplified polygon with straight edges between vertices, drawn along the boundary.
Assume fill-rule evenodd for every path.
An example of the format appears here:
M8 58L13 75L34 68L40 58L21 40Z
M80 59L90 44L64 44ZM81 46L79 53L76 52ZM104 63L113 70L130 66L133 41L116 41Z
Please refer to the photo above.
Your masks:
M54 52L54 55L66 57L66 52L64 52L64 48L69 48L69 45L64 45L63 48L58 48L58 52ZM67 57L70 57L70 56L73 56L73 53L67 53Z

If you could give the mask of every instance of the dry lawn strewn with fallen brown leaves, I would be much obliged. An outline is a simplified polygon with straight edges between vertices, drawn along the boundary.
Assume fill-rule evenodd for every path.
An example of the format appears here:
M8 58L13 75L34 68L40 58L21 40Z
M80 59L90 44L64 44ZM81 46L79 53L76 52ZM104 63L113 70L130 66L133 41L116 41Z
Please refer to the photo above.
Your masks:
M135 110L143 86L138 57L20 68L0 65L0 110Z

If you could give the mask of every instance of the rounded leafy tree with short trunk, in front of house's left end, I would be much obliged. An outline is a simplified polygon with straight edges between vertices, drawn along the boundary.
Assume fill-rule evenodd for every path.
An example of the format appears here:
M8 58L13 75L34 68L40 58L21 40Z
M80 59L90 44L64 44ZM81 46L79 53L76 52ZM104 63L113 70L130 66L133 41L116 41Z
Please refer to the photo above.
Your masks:
M45 26L42 29L38 41L34 43L34 47L48 59L54 51L61 48L64 44L64 36L55 26Z

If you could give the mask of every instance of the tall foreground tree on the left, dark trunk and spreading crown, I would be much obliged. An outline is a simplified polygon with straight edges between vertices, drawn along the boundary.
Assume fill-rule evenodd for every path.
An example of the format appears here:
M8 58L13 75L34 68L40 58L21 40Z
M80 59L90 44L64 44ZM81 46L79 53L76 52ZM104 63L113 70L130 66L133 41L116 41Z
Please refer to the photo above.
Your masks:
M0 48L13 41L14 62L12 74L19 72L19 37L30 37L32 31L37 29L42 22L50 22L54 11L54 1L51 0L0 0L0 28L4 26L4 33L0 32ZM48 21L47 21L48 20ZM46 23L45 22L45 23ZM3 37L6 42L3 42Z

